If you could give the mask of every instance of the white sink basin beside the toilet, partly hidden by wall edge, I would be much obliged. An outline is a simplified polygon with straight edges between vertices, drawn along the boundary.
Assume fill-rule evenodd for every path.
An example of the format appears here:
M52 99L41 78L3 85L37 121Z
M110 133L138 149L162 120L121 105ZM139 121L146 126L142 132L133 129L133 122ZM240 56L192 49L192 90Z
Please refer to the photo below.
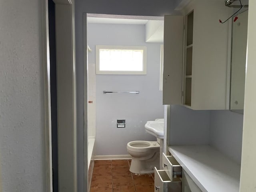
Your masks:
M145 124L146 132L154 135L159 139L164 138L164 121L156 120L156 121L148 121Z

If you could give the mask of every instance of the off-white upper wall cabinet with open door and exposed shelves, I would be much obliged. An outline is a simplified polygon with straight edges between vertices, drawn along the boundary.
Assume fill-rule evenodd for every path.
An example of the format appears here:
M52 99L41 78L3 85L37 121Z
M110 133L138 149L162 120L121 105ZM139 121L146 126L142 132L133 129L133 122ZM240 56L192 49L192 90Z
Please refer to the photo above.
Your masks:
M223 0L194 0L164 18L163 104L227 107L228 18Z

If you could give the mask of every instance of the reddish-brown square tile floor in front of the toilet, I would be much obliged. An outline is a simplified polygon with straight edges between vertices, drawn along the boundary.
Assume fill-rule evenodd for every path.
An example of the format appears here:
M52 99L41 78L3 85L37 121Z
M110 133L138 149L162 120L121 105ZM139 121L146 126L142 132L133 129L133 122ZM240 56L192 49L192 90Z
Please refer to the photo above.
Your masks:
M133 174L131 160L95 160L90 192L154 192L153 174Z

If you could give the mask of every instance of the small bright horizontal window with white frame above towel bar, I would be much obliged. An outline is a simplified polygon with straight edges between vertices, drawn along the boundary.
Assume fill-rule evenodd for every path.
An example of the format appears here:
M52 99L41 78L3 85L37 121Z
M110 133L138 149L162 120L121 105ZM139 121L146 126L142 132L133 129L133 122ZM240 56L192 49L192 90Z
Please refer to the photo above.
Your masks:
M145 46L96 45L96 74L146 74Z

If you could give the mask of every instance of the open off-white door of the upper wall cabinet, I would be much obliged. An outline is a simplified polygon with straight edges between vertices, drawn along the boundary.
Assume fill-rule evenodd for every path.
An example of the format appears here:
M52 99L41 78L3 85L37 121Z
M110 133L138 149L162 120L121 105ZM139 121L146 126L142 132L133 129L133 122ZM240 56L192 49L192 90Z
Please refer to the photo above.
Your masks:
M163 104L182 103L183 16L164 16Z

